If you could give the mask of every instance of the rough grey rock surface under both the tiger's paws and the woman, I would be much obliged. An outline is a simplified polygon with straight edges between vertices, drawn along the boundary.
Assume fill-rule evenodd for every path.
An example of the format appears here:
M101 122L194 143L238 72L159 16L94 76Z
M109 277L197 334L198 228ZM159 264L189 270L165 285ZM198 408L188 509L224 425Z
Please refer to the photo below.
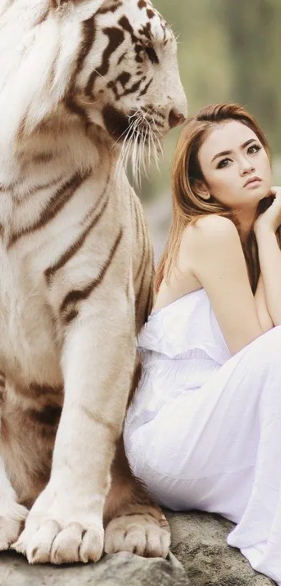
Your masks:
M231 522L206 513L166 511L172 529L167 559L129 553L105 555L98 564L29 566L12 552L0 554L0 586L273 586L229 548ZM176 556L176 557L175 557ZM182 564L182 565L181 565Z

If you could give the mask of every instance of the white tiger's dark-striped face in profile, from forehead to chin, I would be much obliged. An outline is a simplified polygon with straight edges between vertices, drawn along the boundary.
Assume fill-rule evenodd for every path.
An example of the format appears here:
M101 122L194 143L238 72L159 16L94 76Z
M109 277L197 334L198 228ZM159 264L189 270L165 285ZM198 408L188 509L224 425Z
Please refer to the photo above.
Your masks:
M52 0L52 6L61 29L80 22L68 108L114 140L151 146L183 122L176 40L149 0Z

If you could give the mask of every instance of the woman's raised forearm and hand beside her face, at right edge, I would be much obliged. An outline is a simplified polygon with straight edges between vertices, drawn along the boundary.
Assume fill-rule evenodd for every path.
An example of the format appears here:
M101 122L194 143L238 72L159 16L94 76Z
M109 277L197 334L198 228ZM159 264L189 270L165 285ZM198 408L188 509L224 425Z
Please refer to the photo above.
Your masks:
M281 324L281 251L275 235L281 224L281 189L273 188L275 199L255 223L259 265L264 281L266 305L273 325Z

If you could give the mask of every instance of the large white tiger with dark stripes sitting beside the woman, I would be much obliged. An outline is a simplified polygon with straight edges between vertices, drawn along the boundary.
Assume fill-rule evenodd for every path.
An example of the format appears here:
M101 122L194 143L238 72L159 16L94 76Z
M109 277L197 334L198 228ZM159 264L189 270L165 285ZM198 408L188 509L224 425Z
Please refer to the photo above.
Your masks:
M0 0L0 31L0 549L165 556L121 435L153 260L119 161L186 116L176 41L147 0Z

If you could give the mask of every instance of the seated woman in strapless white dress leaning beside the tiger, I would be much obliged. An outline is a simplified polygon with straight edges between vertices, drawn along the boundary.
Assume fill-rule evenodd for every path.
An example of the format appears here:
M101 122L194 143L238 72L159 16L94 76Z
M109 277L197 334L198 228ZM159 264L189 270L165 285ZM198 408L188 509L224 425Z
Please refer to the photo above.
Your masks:
M229 545L281 585L281 190L234 104L186 122L143 374L124 437L158 502L236 522Z

